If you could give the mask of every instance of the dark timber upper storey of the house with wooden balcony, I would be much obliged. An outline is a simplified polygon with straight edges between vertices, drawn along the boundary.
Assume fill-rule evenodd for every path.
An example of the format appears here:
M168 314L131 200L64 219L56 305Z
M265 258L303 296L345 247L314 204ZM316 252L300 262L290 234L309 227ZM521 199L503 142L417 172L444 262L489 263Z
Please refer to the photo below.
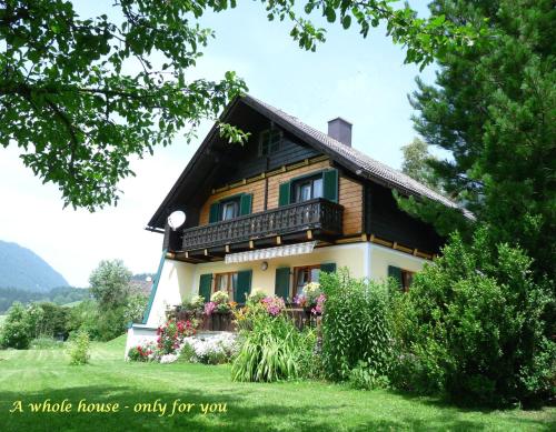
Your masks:
M165 230L165 248L177 258L220 260L307 240L371 240L421 257L438 251L441 239L433 228L397 208L391 190L404 188L393 188L386 174L363 175L359 152L314 133L329 144L317 145L310 134L297 133L301 127L281 121L281 111L272 115L251 102L239 99L222 114L250 133L248 142L227 143L214 129L149 222ZM187 214L177 231L166 223L175 210Z

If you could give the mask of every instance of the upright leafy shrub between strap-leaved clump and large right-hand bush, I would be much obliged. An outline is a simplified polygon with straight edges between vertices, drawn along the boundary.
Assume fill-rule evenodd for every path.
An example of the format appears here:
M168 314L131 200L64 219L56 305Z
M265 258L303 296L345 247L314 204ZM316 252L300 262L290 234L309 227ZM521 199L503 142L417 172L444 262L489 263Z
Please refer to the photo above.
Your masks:
M326 295L322 365L327 378L348 380L361 364L373 376L388 376L393 342L387 285L353 279L347 269L322 273L320 285Z

